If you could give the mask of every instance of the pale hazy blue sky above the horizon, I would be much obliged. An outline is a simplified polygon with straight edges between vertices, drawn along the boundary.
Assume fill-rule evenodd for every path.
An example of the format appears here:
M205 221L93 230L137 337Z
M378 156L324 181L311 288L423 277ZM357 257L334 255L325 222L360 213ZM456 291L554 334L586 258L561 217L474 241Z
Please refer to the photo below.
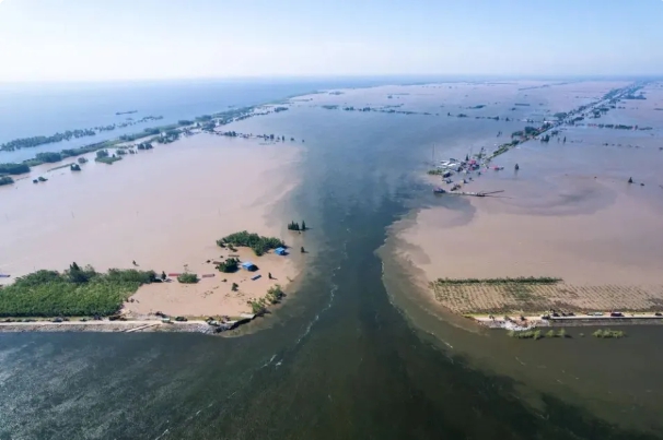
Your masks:
M663 73L661 0L0 0L0 81Z

